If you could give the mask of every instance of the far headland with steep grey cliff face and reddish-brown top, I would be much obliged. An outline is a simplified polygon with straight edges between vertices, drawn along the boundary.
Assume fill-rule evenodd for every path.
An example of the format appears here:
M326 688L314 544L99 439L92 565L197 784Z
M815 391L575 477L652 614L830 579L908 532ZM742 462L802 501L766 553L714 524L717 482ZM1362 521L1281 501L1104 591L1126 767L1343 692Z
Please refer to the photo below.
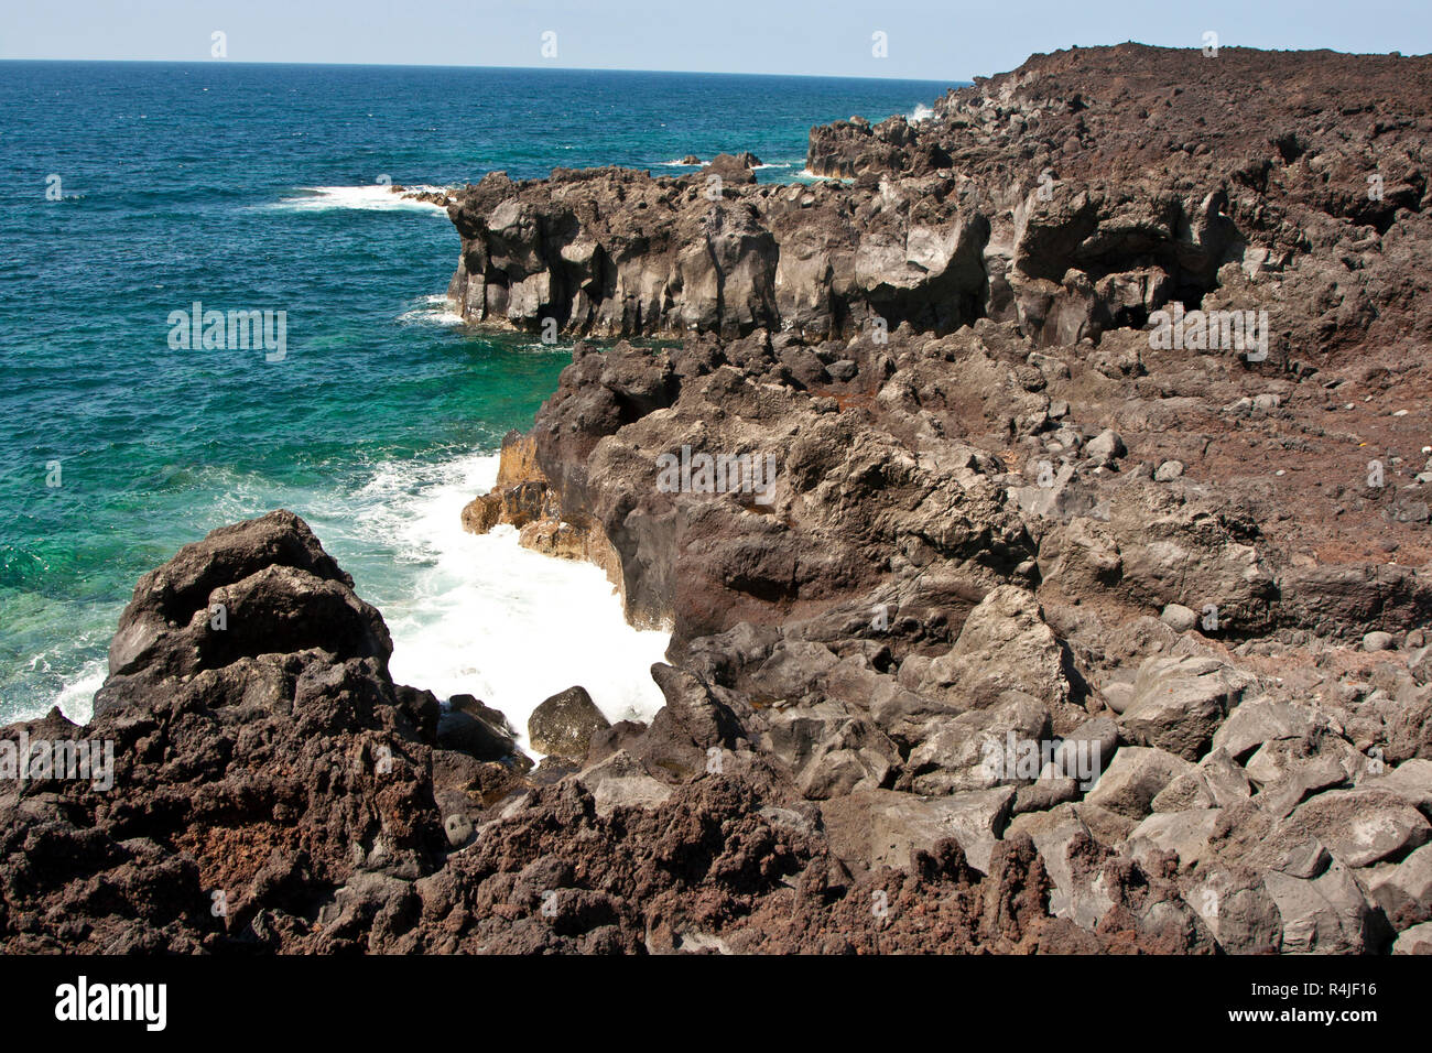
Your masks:
M474 322L576 335L836 338L876 318L937 332L990 318L1077 344L1256 281L1264 301L1306 301L1272 318L1283 354L1425 340L1412 231L1429 87L1428 59L1040 56L918 125L813 129L808 166L849 186L742 185L730 163L715 186L715 165L490 175L450 209L450 294Z

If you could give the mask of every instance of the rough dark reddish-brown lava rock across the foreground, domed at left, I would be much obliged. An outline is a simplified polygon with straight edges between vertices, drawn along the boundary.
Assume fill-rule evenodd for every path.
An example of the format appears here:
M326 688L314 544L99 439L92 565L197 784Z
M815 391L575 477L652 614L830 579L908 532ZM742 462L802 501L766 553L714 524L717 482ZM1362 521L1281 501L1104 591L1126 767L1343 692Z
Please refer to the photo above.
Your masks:
M275 562L258 567L266 554ZM215 532L146 576L126 625L166 597L203 599L193 582L229 595L235 577L262 583L279 622L289 606L331 613L308 579L357 602L308 527L275 513ZM0 947L788 953L1167 941L1141 921L1097 936L1045 917L1028 842L995 845L991 878L968 870L954 842L915 857L909 877L851 878L789 774L752 754L755 711L689 672L653 670L669 705L650 729L603 732L624 736L621 771L647 792L599 811L580 779L536 787L516 758L487 759L504 736L470 725L498 715L463 698L454 703L478 716L454 709L440 723L430 693L394 685L378 656L341 658L348 629L339 619L331 630L292 653L190 658L170 653L189 646L170 629L110 678L110 705L86 728L54 712L4 729L6 741L20 731L107 741L115 768L112 787L7 781ZM178 668L190 672L159 675ZM684 774L673 764L682 749ZM889 930L852 930L876 894L894 904ZM915 911L927 898L932 910Z

